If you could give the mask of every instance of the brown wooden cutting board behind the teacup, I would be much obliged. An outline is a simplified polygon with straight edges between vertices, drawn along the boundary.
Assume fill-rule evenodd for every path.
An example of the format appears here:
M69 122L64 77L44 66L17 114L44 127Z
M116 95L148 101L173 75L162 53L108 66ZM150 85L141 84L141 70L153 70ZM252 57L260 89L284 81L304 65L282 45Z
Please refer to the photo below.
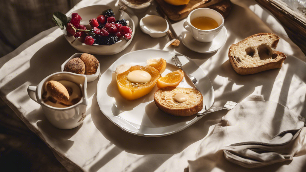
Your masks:
M164 0L155 0L158 6L163 10L166 16L174 21L181 20L197 8L215 9L226 18L230 13L232 4L230 0L190 0L187 5L174 6L166 3Z

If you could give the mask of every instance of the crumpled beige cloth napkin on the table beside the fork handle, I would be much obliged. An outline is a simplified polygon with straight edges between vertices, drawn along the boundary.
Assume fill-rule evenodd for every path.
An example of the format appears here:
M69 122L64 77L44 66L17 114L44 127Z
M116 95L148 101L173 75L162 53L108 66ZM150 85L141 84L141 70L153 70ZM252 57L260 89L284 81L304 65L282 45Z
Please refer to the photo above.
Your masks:
M292 160L301 148L296 138L304 125L302 116L279 103L238 103L204 138L196 160L188 161L189 171L211 170L220 156L247 168ZM304 136L305 132L300 137Z

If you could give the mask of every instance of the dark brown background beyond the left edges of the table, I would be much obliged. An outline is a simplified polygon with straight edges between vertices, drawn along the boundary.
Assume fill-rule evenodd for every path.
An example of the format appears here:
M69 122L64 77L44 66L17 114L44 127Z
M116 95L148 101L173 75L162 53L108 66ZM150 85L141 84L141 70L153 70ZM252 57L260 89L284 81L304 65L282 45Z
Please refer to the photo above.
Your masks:
M55 11L81 0L0 0L0 57L52 28ZM0 171L67 171L48 146L0 99Z

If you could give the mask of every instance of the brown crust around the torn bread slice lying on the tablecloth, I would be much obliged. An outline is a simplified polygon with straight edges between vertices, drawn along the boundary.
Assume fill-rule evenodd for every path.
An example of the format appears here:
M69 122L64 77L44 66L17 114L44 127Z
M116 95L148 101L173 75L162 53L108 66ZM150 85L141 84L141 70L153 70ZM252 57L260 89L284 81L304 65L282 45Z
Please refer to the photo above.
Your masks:
M251 39L253 37L256 36L260 36L260 35L272 35L272 36L277 36L273 33L258 33L252 36L249 36L247 38L245 38L244 40L233 44L230 46L229 48L229 52L228 52L228 57L230 60L231 65L233 66L233 69L240 75L248 75L248 74L254 74L254 73L258 73L258 72L262 72L265 70L269 70L269 69L276 69L276 68L280 68L282 67L282 64L284 62L284 60L286 59L286 55L280 51L273 51L272 54L272 58L275 59L275 61L273 62L269 62L267 64L263 64L263 65L258 65L256 67L241 67L237 65L237 61L235 59L235 56L233 55L233 47L239 45L240 43L243 43L244 41L247 41L248 39ZM279 37L277 36L277 39L272 43L272 48L276 48L277 44L279 41Z

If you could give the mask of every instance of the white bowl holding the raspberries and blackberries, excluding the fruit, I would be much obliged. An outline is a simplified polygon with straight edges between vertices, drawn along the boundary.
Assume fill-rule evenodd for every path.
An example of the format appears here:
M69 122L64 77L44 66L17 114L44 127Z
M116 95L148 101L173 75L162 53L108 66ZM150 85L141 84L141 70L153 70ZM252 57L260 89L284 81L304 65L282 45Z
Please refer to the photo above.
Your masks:
M81 25L84 25L87 30L91 29L92 27L89 25L89 20L92 18L96 18L99 16L103 11L107 9L112 9L110 6L105 5L94 5L94 6L87 6L84 8L77 9L70 13L67 17L71 18L73 13L78 13L82 20L80 21ZM92 44L92 45L86 45L84 42L84 38L79 37L77 40L73 41L75 39L74 36L67 36L66 27L65 29L62 29L62 32L64 33L64 36L66 40L70 43L72 47L74 47L76 50L79 50L83 53L88 54L99 54L99 55L112 55L117 54L120 51L124 50L126 47L129 46L129 44L132 41L132 38L135 34L135 24L132 18L129 16L129 14L125 13L124 11L114 11L116 20L118 19L125 19L126 21L129 21L129 28L132 30L132 37L129 40L125 40L123 37L119 38L118 42L112 44L112 45L98 45L98 44Z

